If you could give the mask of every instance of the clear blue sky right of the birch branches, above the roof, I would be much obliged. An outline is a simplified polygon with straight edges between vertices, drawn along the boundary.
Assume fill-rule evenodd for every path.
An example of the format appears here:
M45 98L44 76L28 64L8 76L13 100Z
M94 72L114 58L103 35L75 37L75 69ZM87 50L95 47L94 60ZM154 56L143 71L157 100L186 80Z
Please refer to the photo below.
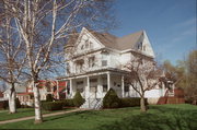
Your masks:
M146 31L160 62L176 64L197 49L197 0L116 0L118 27L111 33L121 37Z

